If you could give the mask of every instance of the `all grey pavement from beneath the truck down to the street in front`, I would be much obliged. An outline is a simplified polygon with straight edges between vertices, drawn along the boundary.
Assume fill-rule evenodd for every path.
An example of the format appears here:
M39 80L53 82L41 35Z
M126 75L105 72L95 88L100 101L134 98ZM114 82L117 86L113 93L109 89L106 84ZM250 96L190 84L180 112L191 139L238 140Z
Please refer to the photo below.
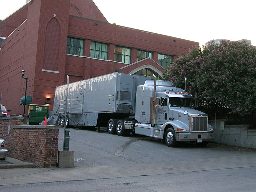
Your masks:
M11 169L9 174L0 170L0 191L254 192L256 188L255 149L216 143L169 148L144 136L68 130L74 168ZM59 150L63 133L60 129Z

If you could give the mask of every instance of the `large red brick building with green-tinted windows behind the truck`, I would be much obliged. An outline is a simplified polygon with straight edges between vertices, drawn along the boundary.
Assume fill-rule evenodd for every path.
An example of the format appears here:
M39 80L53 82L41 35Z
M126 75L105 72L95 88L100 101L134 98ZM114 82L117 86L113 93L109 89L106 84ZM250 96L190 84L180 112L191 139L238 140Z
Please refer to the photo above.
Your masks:
M173 59L199 43L110 24L92 0L31 0L0 20L0 93L11 114L51 102L55 87L115 71L162 78ZM46 100L50 98L50 100ZM27 108L26 112L27 114Z

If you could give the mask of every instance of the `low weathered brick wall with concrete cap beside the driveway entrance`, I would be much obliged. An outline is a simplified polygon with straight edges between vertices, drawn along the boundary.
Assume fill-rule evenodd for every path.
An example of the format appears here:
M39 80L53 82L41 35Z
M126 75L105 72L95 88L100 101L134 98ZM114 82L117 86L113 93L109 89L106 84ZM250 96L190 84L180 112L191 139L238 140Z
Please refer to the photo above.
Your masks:
M23 117L0 118L0 138L5 140L7 156L40 167L57 165L59 127L23 125Z

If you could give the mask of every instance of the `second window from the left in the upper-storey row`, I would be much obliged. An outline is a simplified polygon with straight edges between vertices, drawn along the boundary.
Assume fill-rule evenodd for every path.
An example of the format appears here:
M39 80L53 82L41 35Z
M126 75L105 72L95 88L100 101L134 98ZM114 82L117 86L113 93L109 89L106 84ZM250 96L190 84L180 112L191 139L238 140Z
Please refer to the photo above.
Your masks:
M108 59L108 44L91 41L90 57Z

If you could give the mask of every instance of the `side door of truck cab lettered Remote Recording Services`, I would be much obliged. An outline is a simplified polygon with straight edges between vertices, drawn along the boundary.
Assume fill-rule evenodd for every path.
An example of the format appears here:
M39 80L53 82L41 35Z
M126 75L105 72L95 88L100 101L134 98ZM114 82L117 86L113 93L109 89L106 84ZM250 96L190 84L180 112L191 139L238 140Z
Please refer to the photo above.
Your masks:
M164 124L168 121L168 101L167 98L159 99L159 107L157 109L157 124Z

